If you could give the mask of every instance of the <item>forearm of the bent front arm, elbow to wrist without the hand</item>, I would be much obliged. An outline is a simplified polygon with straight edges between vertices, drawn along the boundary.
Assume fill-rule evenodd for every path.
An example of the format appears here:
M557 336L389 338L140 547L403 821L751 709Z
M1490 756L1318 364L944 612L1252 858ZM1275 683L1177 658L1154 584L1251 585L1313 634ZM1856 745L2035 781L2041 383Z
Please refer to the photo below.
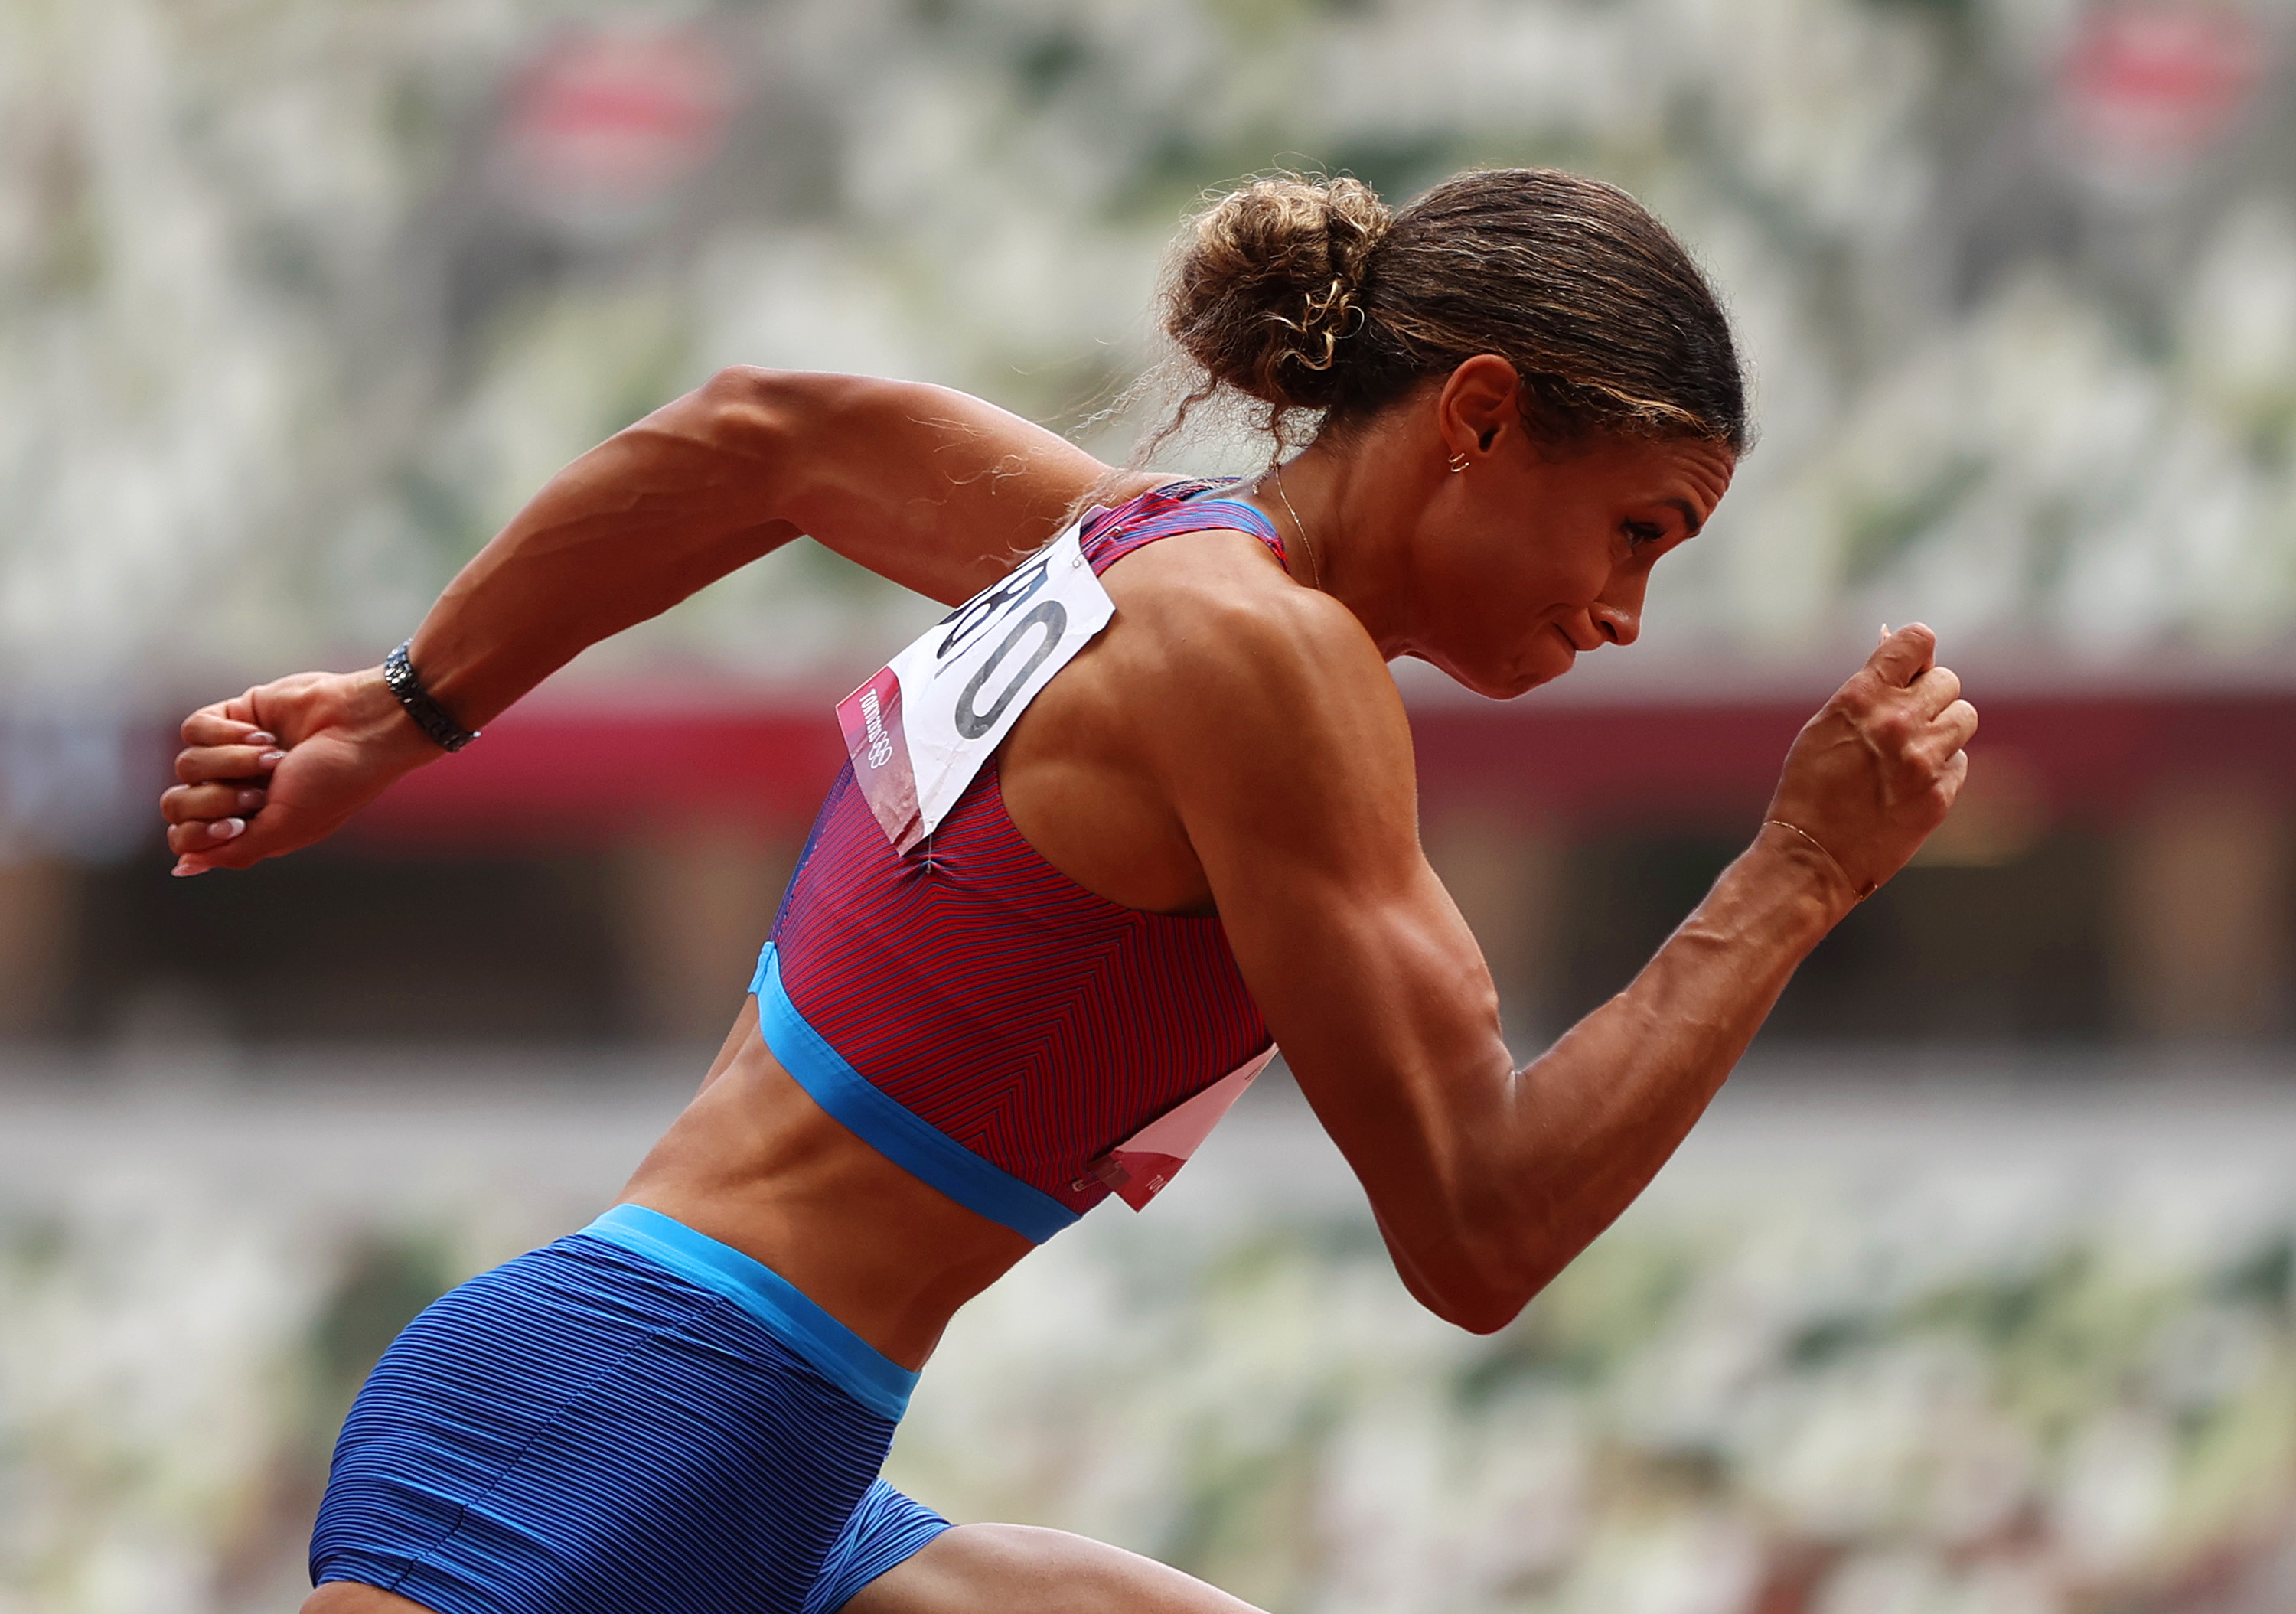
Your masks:
M1520 1299L1649 1187L1853 902L1821 852L1766 827L1626 992L1515 1074L1492 1171Z

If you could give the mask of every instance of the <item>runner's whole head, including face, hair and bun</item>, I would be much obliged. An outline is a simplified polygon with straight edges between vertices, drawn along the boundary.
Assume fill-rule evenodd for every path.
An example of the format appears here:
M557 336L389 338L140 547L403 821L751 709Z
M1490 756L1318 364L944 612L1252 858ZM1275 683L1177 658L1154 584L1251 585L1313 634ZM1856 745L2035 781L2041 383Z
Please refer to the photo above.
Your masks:
M1373 631L1488 693L1632 641L1651 562L1750 439L1697 264L1616 186L1554 170L1401 211L1355 179L1256 179L1182 239L1164 326L1201 367L1189 404L1244 395L1279 445L1359 461L1357 505L1412 489L1412 620Z

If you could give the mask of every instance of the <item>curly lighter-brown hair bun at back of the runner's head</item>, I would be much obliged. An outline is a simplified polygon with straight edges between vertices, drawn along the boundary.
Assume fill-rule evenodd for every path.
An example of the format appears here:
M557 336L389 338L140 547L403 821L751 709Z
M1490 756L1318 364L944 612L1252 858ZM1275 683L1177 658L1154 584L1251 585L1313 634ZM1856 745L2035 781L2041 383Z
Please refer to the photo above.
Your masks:
M1272 174L1196 218L1164 282L1164 331L1212 383L1272 411L1348 395L1371 255L1396 216L1362 179Z

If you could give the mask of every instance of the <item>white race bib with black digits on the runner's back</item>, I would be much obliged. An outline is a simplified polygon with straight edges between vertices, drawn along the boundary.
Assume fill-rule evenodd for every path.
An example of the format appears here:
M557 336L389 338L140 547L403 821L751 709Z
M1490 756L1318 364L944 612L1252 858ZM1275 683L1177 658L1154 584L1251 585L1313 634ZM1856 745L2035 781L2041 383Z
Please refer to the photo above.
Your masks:
M893 849L930 836L1116 604L1068 528L838 703L854 783Z

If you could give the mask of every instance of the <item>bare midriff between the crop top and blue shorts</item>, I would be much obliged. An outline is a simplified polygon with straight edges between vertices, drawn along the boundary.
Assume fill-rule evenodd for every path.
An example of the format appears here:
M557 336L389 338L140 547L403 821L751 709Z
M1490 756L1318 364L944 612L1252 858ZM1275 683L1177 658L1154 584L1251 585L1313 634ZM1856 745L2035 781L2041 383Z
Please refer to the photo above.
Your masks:
M957 1306L1035 1249L815 1104L758 1035L755 999L622 1198L762 1260L912 1371Z

